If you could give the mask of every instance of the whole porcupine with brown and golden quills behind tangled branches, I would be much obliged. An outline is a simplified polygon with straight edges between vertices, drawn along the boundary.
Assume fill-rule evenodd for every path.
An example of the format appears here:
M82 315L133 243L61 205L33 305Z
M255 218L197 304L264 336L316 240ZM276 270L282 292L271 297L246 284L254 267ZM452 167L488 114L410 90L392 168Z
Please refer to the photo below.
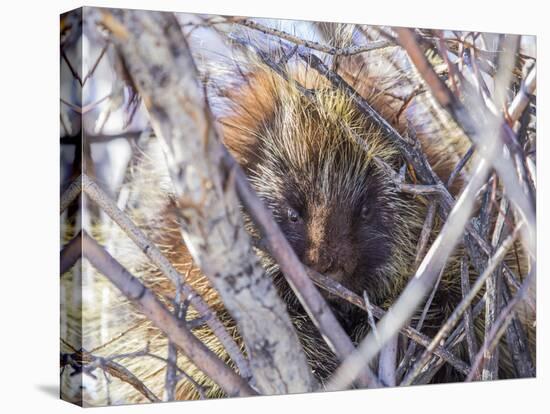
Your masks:
M463 149L460 134L430 113L426 109L428 104L418 103L415 107L412 102L408 110L400 112L402 100L396 99L395 94L402 84L399 76L395 76L396 71L388 71L389 74L370 71L364 64L359 69L354 59L347 62L342 59L338 71L400 134L408 137L414 130L413 139L420 141L434 171L445 182L460 159ZM381 160L399 171L405 165L399 149L376 123L361 113L345 92L334 88L311 69L289 68L285 76L281 76L261 62L251 61L241 76L246 81L227 94L231 110L219 119L224 144L244 169L304 264L357 294L366 292L373 303L388 308L414 274L416 242L427 209L423 197L399 192L387 171L376 162L376 159ZM304 91L311 93L306 96ZM151 180L150 170L162 170L151 162L146 160L140 167L144 171L141 180L145 181L138 185ZM162 177L156 179L162 181ZM139 181L139 178L134 177L134 180ZM460 179L455 181L453 191L456 192L459 183ZM156 185L155 181L151 187ZM151 196L158 193L156 188L149 193L149 198L137 201L142 207L148 205L150 211L162 211L161 214L141 216L140 209L133 209L133 218L176 268L186 274L186 280L207 300L241 344L231 316L207 278L193 266L166 195L170 189L165 190L164 196ZM146 193L147 190L140 191L141 195ZM152 204L155 207L151 207ZM247 226L255 235L250 220ZM287 304L312 372L323 382L334 372L339 361L298 302L277 264L266 253L259 250L258 254ZM142 275L160 297L173 298L173 285L155 268L130 262L125 265ZM460 300L457 274L458 261L451 260L424 332L435 333ZM369 330L366 313L342 299L325 292L323 295L351 339L358 343ZM190 313L193 314L192 309ZM481 318L478 319L481 323ZM134 315L126 326L124 335L106 347L107 354L136 351L147 342L151 353L166 355L166 338L147 320ZM195 333L220 357L232 363L208 328L195 329ZM510 361L506 358L506 354L501 358L503 377L512 376ZM184 355L180 354L178 361L189 377L206 386L208 397L223 396L223 392ZM123 360L123 365L143 378L153 392L162 395L165 362L128 358ZM434 381L460 378L460 374L448 369L442 370ZM116 388L113 394L124 402L143 400L141 394L125 384ZM177 399L198 396L197 387L191 381L179 382Z

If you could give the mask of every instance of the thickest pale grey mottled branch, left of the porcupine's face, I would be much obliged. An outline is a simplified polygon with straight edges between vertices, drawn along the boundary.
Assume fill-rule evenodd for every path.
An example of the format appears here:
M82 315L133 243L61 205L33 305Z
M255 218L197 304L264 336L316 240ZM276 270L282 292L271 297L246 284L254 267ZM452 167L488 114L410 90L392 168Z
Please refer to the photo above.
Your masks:
M252 249L222 145L187 41L170 13L102 11L163 143L186 246L236 320L256 386L307 392L315 383L285 306ZM267 323L269 321L269 323Z

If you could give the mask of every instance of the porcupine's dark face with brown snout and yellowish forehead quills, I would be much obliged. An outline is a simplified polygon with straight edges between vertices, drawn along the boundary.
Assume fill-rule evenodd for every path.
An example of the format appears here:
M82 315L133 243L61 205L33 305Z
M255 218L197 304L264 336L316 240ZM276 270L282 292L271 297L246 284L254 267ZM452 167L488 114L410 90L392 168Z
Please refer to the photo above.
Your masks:
M342 99L326 92L313 103L281 105L257 133L249 177L303 263L358 294L379 297L392 284L402 237L399 200L373 156L394 154Z

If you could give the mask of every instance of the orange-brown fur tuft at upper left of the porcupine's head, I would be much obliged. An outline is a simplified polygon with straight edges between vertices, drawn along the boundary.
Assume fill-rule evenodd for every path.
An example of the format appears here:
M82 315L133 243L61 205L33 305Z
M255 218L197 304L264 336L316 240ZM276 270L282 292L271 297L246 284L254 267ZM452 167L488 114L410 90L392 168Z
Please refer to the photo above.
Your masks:
M258 68L243 75L241 86L227 93L231 110L220 119L224 144L245 170L257 163L262 131L280 101L276 76L268 68Z

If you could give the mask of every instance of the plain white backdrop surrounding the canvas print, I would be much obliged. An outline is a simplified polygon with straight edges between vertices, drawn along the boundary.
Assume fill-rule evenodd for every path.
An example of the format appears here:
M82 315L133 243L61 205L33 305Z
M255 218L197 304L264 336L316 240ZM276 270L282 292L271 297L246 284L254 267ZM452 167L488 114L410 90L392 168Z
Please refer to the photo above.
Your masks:
M0 410L76 412L58 382L58 15L81 3L16 0L0 11ZM329 20L538 36L538 361L536 380L101 408L94 412L540 412L548 393L550 13L542 1L111 0L89 5ZM468 410L468 411L466 411Z

